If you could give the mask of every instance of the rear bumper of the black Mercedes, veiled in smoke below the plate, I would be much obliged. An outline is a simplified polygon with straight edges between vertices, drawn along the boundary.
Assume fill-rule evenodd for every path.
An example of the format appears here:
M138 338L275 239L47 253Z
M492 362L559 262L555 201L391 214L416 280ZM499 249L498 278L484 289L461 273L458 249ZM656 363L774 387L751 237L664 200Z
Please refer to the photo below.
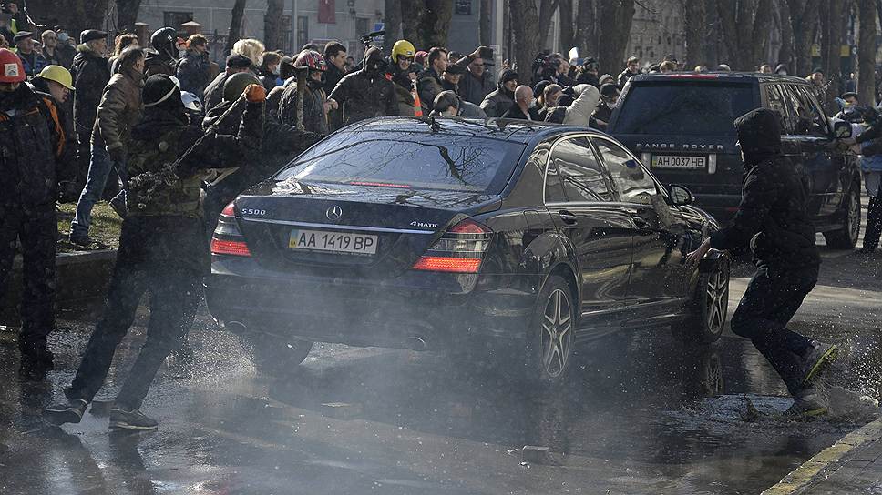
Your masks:
M241 323L246 332L354 346L404 348L416 337L427 349L443 349L467 338L522 339L536 300L534 292L510 285L480 288L486 280L455 293L374 281L245 277L222 271L205 278L209 310L221 322Z

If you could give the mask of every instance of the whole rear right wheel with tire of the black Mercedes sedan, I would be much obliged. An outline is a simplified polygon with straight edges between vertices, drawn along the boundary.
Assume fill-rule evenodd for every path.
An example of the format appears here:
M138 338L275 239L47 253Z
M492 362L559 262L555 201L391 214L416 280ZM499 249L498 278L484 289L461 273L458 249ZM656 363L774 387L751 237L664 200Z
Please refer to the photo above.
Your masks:
M551 275L539 291L527 335L529 381L551 384L567 376L576 343L578 306L573 299L572 289L559 275Z

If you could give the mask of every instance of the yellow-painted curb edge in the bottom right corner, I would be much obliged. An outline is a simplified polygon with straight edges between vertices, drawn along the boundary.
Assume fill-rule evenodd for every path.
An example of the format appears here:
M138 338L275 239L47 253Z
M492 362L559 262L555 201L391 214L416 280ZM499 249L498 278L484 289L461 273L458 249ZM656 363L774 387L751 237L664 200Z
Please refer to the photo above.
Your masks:
M877 439L882 439L882 418L867 423L839 439L832 446L821 450L776 485L765 490L762 495L790 495L807 488L813 482L821 480L822 472L826 478L838 470L842 466L839 461L849 453Z

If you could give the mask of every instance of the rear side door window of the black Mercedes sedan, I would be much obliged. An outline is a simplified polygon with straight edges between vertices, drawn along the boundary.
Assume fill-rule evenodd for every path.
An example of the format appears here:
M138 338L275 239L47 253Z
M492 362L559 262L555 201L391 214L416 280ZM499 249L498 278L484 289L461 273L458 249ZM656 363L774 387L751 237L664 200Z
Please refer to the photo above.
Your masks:
M610 201L610 187L587 137L559 141L551 151L551 162L569 202Z

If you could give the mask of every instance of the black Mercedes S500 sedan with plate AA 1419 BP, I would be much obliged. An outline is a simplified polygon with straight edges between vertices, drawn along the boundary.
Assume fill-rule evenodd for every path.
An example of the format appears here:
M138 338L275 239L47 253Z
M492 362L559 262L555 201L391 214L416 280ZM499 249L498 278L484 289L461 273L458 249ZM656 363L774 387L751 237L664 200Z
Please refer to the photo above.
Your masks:
M319 341L515 359L557 380L610 332L719 338L728 259L685 264L718 228L691 203L593 129L378 118L223 210L206 298L273 373Z

